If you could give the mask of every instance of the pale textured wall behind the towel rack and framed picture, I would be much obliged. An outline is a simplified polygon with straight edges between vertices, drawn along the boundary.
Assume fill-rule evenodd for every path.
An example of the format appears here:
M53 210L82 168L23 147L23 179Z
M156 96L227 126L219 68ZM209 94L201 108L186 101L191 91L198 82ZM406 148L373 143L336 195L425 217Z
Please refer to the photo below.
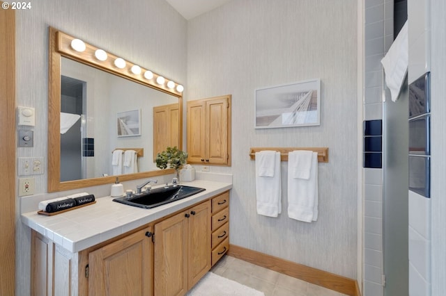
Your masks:
M356 278L357 3L238 0L188 23L188 99L232 94L231 243ZM254 129L254 90L321 79L321 126ZM249 147L329 147L319 218L256 215ZM286 180L286 163L282 163Z

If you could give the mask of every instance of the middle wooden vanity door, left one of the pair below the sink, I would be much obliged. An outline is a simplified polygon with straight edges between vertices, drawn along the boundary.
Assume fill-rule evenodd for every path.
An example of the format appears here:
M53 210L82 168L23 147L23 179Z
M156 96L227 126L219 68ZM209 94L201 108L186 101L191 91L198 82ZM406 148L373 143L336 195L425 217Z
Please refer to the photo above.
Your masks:
M155 224L155 295L187 292L187 217L178 213ZM190 215L190 214L188 214Z

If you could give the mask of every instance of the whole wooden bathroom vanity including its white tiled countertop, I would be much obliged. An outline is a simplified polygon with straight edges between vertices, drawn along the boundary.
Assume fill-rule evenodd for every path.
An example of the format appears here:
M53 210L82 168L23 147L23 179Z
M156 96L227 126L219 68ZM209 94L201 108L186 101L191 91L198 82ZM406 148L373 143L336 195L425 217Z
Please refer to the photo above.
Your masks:
M183 295L229 249L231 183L157 208L96 199L31 227L32 295Z

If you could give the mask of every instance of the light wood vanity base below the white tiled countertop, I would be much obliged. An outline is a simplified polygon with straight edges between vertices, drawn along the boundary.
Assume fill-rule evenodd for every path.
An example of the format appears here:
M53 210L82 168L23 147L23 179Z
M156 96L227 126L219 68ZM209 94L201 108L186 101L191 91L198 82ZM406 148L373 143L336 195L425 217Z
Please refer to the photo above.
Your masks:
M185 295L229 249L229 191L78 253L31 233L31 295Z

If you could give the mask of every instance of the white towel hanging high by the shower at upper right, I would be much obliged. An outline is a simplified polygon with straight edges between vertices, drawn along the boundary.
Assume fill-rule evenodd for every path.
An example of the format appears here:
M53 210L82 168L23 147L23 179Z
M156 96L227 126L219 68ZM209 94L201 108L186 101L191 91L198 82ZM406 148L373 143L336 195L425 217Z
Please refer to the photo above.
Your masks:
M389 51L381 60L385 72L385 84L390 89L392 101L397 101L408 67L408 24L404 24Z

